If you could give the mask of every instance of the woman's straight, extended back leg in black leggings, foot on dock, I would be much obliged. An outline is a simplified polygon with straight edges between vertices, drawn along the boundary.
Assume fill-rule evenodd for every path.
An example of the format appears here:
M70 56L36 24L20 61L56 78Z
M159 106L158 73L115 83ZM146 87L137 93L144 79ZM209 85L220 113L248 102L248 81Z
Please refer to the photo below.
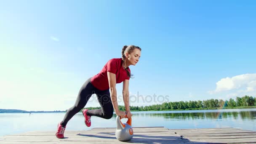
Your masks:
M67 125L68 121L85 107L91 95L94 94L94 87L91 84L90 80L91 78L86 80L82 88L80 88L75 105L67 110L61 125Z

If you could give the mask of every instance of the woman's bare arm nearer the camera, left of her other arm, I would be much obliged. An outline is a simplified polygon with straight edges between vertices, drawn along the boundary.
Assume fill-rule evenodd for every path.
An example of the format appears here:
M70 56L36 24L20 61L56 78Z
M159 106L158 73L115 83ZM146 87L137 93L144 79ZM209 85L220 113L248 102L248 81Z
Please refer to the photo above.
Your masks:
M109 89L110 89L110 98L115 110L115 113L119 115L121 118L125 117L125 112L120 112L118 109L118 104L117 104L117 90L115 88L116 85L116 77L115 74L112 72L107 72L107 77L109 81Z

